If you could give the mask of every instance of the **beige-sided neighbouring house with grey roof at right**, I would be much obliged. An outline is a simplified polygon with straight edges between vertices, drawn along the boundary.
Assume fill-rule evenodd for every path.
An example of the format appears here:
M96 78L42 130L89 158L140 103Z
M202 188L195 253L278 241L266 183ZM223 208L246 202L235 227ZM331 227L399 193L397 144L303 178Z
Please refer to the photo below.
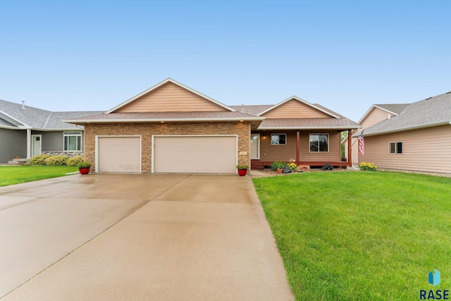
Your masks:
M354 137L359 133L354 134ZM408 104L364 130L359 162L379 168L451 173L451 92Z

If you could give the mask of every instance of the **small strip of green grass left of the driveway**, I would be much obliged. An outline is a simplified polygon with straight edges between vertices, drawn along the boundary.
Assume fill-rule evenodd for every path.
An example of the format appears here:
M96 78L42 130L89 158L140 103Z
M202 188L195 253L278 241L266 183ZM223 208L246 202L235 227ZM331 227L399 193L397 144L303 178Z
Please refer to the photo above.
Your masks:
M56 178L78 171L75 166L0 166L0 186Z

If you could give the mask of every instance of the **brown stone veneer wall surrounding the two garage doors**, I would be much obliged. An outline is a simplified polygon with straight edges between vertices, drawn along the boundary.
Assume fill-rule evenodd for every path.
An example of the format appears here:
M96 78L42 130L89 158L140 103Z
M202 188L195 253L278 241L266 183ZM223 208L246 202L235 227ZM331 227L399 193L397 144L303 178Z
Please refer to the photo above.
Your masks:
M152 135L238 135L238 164L250 164L249 122L238 123L88 123L85 125L85 161L95 170L97 135L142 136L141 172L152 171ZM247 154L240 154L246 152Z

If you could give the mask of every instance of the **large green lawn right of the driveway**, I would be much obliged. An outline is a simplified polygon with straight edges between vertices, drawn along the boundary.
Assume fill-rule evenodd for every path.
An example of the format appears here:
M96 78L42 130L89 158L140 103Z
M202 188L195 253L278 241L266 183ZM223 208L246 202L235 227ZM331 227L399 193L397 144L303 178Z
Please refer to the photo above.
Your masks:
M419 300L419 290L451 289L451 178L318 172L254 185L297 300Z

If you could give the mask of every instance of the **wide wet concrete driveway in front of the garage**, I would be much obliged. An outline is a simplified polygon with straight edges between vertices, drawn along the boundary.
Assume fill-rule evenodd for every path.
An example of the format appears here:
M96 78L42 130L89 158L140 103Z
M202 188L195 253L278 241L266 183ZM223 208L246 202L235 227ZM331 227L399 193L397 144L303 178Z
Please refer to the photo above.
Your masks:
M0 188L0 241L2 301L294 299L248 176Z

